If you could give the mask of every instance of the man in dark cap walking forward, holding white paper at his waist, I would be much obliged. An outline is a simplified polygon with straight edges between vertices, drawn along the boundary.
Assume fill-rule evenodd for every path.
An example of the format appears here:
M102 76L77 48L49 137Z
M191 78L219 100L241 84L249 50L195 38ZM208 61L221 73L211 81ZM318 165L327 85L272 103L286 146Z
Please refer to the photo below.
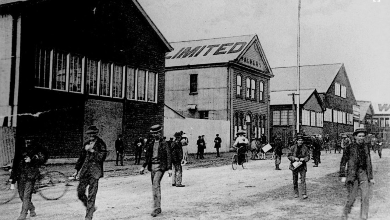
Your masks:
M290 170L293 171L294 197L299 197L298 191L298 173L301 175L302 198L307 199L306 195L306 163L310 161L310 151L306 145L303 145L303 135L296 136L296 144L290 147L287 158L291 161Z

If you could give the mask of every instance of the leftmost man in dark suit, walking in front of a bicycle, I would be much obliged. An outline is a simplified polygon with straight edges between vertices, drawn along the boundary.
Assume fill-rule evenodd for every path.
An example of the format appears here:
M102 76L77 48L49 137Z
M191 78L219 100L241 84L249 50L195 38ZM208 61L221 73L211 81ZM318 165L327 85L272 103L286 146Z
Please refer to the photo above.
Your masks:
M23 145L20 145L17 150L9 181L11 183L18 181L19 197L23 202L18 220L24 220L28 211L30 216L36 215L31 195L35 181L39 177L39 166L47 160L47 151L34 143L32 137L26 137Z

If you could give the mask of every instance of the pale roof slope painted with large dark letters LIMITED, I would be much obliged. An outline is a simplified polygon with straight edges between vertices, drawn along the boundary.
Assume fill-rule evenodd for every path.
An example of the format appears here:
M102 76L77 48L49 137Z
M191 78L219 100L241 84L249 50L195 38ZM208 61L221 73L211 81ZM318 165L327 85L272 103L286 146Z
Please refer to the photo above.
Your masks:
M167 53L165 67L227 63L237 59L255 37L252 34L172 42L170 45L174 50Z

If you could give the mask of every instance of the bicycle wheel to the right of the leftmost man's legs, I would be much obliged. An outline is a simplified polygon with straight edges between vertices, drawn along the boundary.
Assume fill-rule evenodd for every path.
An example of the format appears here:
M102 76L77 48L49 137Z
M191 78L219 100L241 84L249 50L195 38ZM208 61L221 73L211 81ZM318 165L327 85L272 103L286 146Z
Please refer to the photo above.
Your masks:
M35 183L35 188L44 199L57 200L65 195L68 178L62 172L49 171L42 174L42 178Z

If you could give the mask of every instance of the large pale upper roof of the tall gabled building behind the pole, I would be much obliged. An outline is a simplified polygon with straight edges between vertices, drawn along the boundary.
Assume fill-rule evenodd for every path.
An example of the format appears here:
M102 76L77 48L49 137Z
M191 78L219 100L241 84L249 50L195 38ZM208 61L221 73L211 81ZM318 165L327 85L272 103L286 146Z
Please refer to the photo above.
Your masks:
M342 63L300 66L300 89L317 89L326 93ZM270 91L296 90L296 66L272 68L275 77Z

